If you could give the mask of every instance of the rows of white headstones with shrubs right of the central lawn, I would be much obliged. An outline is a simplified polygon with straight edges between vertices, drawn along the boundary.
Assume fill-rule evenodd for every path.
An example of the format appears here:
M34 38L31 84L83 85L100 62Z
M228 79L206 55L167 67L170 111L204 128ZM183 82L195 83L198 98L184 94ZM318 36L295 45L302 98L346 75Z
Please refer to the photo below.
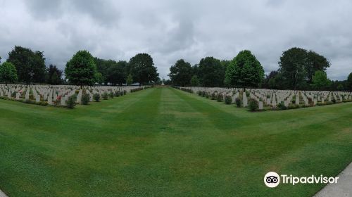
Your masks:
M253 110L291 109L310 106L323 106L333 103L352 101L351 92L346 91L294 91L276 89L239 89L239 88L206 88L206 87L182 87L184 91L199 94L206 98L223 101L227 104L235 103L238 107ZM252 109L251 109L252 110Z

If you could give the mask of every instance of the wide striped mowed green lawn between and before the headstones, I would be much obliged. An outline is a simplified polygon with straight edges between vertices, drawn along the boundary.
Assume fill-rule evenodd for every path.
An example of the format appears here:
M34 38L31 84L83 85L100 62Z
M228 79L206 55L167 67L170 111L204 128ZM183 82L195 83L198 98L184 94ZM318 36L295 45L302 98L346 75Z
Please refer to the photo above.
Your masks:
M8 196L313 196L266 172L336 176L352 162L352 103L250 113L153 88L73 110L0 100Z

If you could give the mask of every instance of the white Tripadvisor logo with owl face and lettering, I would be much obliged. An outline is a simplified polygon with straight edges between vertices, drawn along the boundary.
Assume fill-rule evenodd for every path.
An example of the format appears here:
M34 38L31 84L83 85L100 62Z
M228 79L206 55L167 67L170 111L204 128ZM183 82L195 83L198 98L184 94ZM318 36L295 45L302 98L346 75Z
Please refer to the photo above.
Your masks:
M264 183L270 188L274 188L280 184L336 184L339 177L323 177L322 174L318 177L311 175L310 177L294 177L287 174L277 174L276 172L268 172L264 176Z

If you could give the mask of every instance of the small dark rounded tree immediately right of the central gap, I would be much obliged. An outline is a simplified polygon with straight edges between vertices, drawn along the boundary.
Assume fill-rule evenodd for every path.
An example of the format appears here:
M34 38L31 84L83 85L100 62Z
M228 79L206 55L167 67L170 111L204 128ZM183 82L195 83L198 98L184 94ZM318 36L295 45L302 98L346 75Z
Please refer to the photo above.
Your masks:
M170 77L172 84L181 85L184 87L191 81L191 72L191 64L185 62L183 59L180 59L175 63L175 65L170 67L170 73L168 76Z

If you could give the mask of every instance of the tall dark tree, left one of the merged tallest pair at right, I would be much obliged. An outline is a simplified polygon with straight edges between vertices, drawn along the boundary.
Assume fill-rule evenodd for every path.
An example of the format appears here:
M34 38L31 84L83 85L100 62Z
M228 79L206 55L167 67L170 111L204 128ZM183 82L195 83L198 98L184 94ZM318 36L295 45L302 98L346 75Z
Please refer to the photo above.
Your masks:
M307 51L301 48L292 48L282 53L279 61L279 72L287 82L288 88L303 87L306 77Z

